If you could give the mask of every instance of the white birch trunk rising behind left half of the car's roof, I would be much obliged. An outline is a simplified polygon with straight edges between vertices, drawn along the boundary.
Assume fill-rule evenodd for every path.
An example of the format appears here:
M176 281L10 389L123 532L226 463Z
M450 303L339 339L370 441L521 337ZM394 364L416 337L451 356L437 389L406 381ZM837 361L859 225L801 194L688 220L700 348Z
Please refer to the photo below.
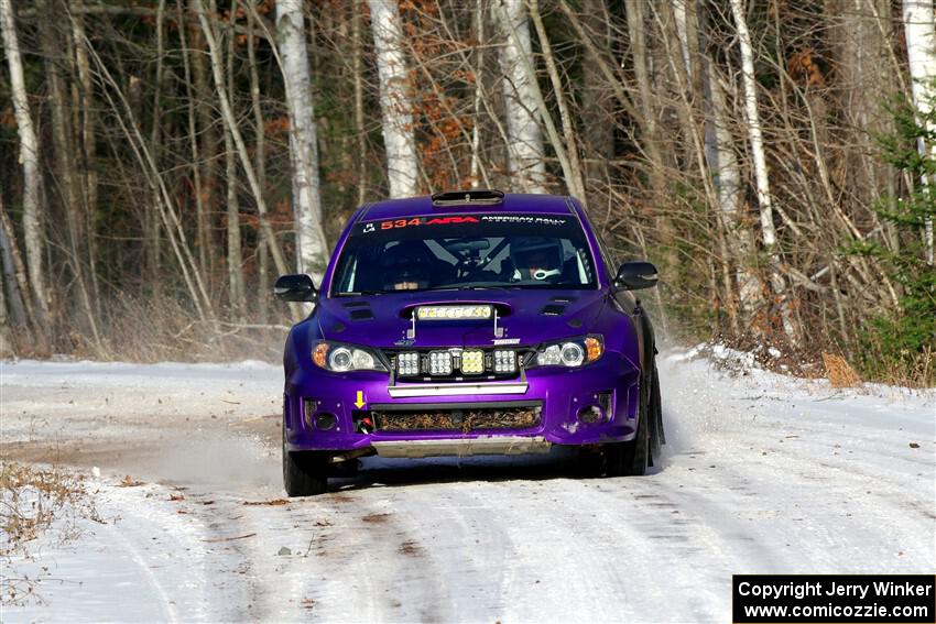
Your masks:
M410 101L403 29L396 0L369 0L370 23L380 77L383 145L391 197L416 195L420 161Z

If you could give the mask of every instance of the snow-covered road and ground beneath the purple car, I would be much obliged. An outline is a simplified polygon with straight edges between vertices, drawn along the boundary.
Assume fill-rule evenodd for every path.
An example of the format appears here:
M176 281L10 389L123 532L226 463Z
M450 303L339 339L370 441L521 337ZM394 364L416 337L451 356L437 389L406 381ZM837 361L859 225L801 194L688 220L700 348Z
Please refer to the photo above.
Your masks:
M250 504L283 496L281 374L2 363L0 453L100 467L108 522L4 569L53 580L0 620L728 622L732 573L936 570L934 391L671 354L646 477L364 460L327 495Z

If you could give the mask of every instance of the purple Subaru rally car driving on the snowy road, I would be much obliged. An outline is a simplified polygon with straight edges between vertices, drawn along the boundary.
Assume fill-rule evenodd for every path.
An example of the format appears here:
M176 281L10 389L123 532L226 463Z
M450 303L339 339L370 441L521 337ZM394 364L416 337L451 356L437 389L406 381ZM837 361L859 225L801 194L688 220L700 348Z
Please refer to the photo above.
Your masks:
M643 474L664 441L653 329L573 197L467 190L358 209L286 339L283 481L318 494L368 455L579 447L608 475Z

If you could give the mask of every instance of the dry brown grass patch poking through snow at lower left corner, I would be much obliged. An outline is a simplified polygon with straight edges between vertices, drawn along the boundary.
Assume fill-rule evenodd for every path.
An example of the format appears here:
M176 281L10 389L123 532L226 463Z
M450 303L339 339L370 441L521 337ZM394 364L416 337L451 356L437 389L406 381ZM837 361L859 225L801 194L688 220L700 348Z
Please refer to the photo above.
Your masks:
M30 559L30 544L53 532L63 544L79 535L77 521L101 522L85 485L84 475L56 468L0 462L0 605L41 601L36 585L42 576L22 576L12 560ZM47 568L41 568L47 576Z

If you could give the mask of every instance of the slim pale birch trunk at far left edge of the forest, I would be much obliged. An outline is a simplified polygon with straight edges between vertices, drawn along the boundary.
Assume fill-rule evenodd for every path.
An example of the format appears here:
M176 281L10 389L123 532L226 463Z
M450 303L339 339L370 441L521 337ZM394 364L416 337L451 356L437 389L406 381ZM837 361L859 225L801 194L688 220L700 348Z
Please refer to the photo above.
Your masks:
M20 135L20 162L23 164L23 238L26 245L30 286L36 300L35 313L39 325L48 322L48 299L46 298L45 274L43 272L42 233L42 172L39 164L39 142L33 129L26 86L23 79L23 62L20 57L20 43L17 37L17 24L13 21L13 7L10 0L0 0L0 30L3 34L3 48L10 68L10 90L12 91L13 113Z

